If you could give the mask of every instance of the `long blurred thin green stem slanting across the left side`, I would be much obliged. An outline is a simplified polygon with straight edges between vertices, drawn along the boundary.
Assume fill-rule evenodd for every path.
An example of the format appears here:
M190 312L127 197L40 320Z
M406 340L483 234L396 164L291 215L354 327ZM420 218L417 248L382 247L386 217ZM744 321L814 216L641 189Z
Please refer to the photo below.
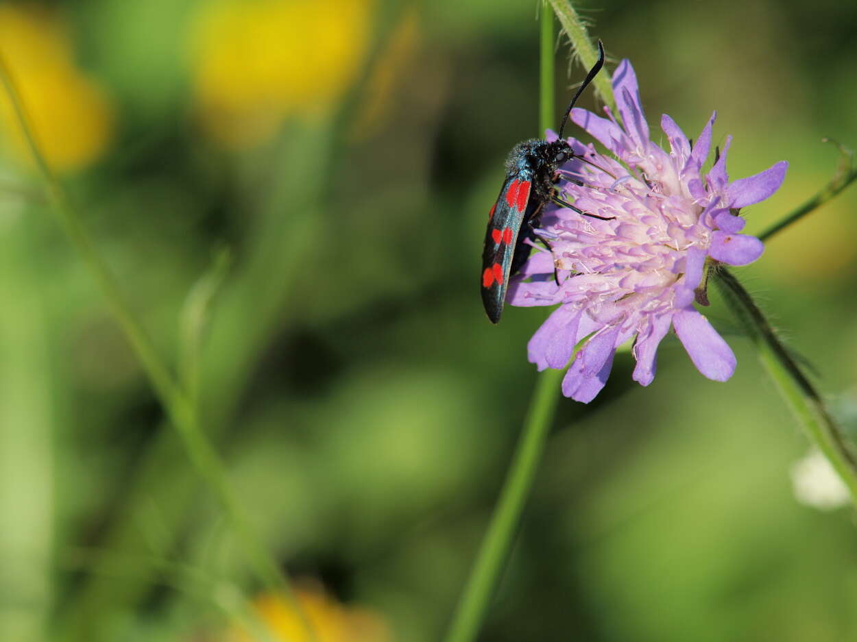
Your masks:
M33 128L21 101L21 94L18 92L15 80L2 53L0 53L0 80L2 80L3 87L9 95L9 101L15 111L33 162L45 184L45 196L48 203L57 214L59 223L66 234L69 235L69 241L81 254L81 259L87 265L87 269L92 272L95 281L101 288L111 314L128 339L137 359L140 360L143 370L152 383L155 395L158 396L171 423L182 437L191 463L200 473L202 479L215 491L225 513L231 520L237 538L241 541L241 548L255 574L270 589L281 591L285 595L297 611L309 639L315 640L315 633L300 609L288 580L279 572L277 562L268 554L255 530L249 525L249 521L243 514L241 504L232 493L227 481L225 465L201 429L197 408L159 358L146 333L134 318L116 278L95 249L79 213L71 205L63 187L60 186L56 176L51 172L35 140Z

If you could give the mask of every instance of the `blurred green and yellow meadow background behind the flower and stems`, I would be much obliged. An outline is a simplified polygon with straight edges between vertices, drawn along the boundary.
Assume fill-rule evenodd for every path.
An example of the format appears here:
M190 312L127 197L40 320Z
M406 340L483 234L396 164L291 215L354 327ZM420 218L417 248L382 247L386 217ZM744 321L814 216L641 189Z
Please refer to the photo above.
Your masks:
M511 455L546 311L493 327L477 281L506 152L538 134L537 9L0 3L45 154L178 370L182 319L224 276L203 423L321 642L439 639ZM751 233L833 175L822 137L857 145L857 4L582 10L611 65L634 63L653 127L668 112L697 136L716 109L731 175L791 163ZM582 72L557 56L559 111ZM5 96L0 123L0 639L261 639L239 631L250 600L303 640L41 202ZM841 407L855 205L844 193L739 270ZM728 383L668 341L650 388L622 354L590 406L560 402L481 639L857 639L852 515L795 501L806 440L728 312L710 318L738 355Z

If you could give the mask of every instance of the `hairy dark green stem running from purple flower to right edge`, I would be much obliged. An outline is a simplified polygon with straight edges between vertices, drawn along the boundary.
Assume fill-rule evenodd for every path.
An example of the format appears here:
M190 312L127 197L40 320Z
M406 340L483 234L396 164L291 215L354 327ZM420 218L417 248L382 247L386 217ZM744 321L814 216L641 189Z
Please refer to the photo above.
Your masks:
M824 400L818 390L777 339L776 332L740 282L725 269L716 270L715 274L715 282L723 298L756 344L765 370L780 389L788 407L806 431L806 436L824 453L848 486L851 499L857 506L857 458L824 407Z

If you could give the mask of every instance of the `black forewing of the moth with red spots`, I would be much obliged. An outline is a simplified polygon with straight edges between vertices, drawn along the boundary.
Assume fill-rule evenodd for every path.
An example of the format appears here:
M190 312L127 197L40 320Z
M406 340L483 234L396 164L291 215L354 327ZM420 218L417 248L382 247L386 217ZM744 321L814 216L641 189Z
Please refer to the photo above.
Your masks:
M500 189L500 196L494 204L492 214L485 231L485 246L482 250L482 304L492 323L500 321L503 302L506 300L506 288L512 270L512 262L523 265L519 259L524 247L518 243L521 227L536 211L538 203L531 198L531 183L521 180L520 173L506 175L506 181ZM518 207L518 205L523 205ZM521 241L529 234L524 229ZM516 256L517 254L517 256ZM524 255L529 255L529 251Z

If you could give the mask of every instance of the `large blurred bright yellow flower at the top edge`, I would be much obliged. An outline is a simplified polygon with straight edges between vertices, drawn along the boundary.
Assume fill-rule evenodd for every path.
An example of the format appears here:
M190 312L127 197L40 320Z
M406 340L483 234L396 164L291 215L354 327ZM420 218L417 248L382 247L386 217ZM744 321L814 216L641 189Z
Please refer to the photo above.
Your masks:
M372 0L215 0L191 38L203 126L247 146L285 116L323 113L353 80L369 39Z

